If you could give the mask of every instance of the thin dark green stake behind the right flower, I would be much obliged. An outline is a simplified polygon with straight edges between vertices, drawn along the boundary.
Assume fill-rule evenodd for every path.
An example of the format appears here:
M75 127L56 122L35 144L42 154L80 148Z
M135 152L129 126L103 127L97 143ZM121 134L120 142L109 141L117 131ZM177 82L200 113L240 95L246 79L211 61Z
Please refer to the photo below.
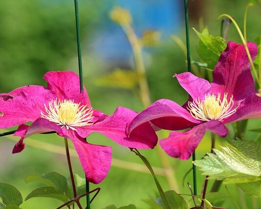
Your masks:
M185 23L186 23L186 42L187 42L187 61L188 61L188 72L191 72L191 58L190 58L190 32L189 32L189 12L188 12L188 0L184 0L184 9L185 9ZM192 155L192 160L196 160L195 151ZM193 189L194 195L197 194L196 189L196 166L193 164Z

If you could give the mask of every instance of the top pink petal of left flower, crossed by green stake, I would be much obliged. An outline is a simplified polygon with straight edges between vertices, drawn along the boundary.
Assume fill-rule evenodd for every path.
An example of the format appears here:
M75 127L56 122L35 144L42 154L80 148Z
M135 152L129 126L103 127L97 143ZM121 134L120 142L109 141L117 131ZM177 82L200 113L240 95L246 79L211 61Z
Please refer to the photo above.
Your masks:
M75 95L80 93L80 80L75 72L50 71L47 72L43 78L47 81L47 89L55 93L61 100L73 100L76 97ZM83 104L87 104L88 107L90 107L89 97L85 88L81 94L80 97L85 100Z

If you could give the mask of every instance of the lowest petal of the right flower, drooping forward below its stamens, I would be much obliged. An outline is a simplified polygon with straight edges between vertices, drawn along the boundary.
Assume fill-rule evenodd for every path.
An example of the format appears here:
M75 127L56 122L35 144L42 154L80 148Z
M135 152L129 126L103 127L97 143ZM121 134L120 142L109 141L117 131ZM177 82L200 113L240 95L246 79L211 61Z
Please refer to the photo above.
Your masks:
M221 137L225 137L228 132L222 122L211 120L183 133L172 132L168 138L160 140L159 144L169 156L187 160L195 151L206 131L211 131Z

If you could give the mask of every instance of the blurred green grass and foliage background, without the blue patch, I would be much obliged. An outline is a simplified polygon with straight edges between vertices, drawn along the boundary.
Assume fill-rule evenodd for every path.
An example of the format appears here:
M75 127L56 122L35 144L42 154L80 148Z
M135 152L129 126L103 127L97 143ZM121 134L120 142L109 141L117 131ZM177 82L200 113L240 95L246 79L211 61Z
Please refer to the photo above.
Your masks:
M91 43L89 38L94 36L97 31L97 25L101 25L96 1L93 5L92 0L86 2L80 1L80 15L82 24L82 37L84 43L83 64L84 64L84 84L89 93L91 103L94 109L102 110L107 114L113 113L117 106L125 106L135 111L143 109L140 101L131 92L126 90L106 89L93 85L93 81L99 78L109 69L111 63L105 63L90 50ZM246 1L226 1L226 0L205 0L206 13L203 22L208 26L209 31L215 36L219 35L219 22L216 18L221 13L228 13L235 17L239 25L243 23L243 12ZM236 5L236 7L235 7ZM94 9L92 9L94 8ZM231 9L233 8L233 9ZM248 15L248 40L253 41L260 35L260 6L250 9ZM14 88L38 84L45 85L42 77L48 70L74 70L77 72L77 49L74 26L73 5L70 1L55 0L20 0L10 1L1 0L0 3L0 92L9 92ZM197 21L191 22L191 28L198 29ZM180 29L179 35L184 41L184 28ZM239 36L231 25L228 35L229 40L240 43ZM198 60L196 55L196 45L198 39L191 30L192 54L194 59ZM186 71L186 58L179 47L171 40L171 37L156 46L150 54L145 55L147 63L147 74L149 86L152 93L152 101L160 98L168 98L182 104L186 101L187 94L180 88L174 73ZM260 128L261 120L252 119L249 121L248 130ZM257 133L246 133L247 139L256 139ZM35 135L31 137L35 140L45 141L51 144L64 146L62 138L56 135ZM16 138L18 139L18 138ZM218 142L222 143L224 139ZM88 141L94 144L104 144L113 147L113 158L125 161L141 163L140 159L131 153L128 148L123 148L100 134L92 134ZM26 143L26 139L25 139ZM67 163L64 155L46 152L42 149L26 146L24 151L19 154L11 154L15 141L5 137L0 139L0 182L16 186L21 192L23 198L36 188L37 184L25 184L24 178L29 174L43 174L51 171L59 172L69 176ZM197 159L201 158L210 148L209 134L200 143L197 148ZM142 150L153 166L160 167L159 156L155 150ZM181 193L189 193L187 186L181 185L184 174L191 168L191 160L180 161L167 157L173 164L178 179ZM73 169L82 177L83 170L77 158L72 159ZM197 172L198 191L201 189L204 177ZM163 188L168 190L167 181L159 177ZM186 178L186 182L192 184L192 173ZM185 184L186 185L186 184ZM115 204L123 206L135 204L138 209L148 209L143 201L149 195L154 195L156 186L149 174L130 171L118 167L111 167L108 177L100 184L101 192L97 199L92 203L92 209L102 209L103 207ZM95 188L91 185L90 188ZM238 189L234 185L228 186L233 197L240 203ZM221 189L226 193L224 186ZM251 197L244 195L249 209L251 209ZM30 199L22 204L23 209L52 209L62 203L47 198ZM259 201L261 205L261 202ZM231 201L225 205L229 209L235 208Z

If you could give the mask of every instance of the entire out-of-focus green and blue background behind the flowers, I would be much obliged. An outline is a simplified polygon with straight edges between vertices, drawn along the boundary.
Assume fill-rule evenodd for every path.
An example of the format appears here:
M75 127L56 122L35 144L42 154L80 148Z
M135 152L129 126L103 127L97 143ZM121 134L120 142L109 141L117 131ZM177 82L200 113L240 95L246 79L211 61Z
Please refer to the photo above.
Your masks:
M196 53L198 38L192 27L201 31L204 26L208 26L210 33L218 36L220 21L216 19L223 13L233 16L242 26L246 4L245 0L189 0L191 48L195 60L200 59ZM140 100L132 91L97 83L97 79L117 67L133 69L128 40L121 27L109 19L109 11L116 5L130 10L133 27L138 36L146 29L161 32L160 42L143 51L152 101L168 98L179 104L185 102L187 94L180 88L173 74L186 71L186 57L171 39L172 35L176 35L185 41L182 0L79 0L84 85L93 108L106 114L112 114L117 106L128 107L137 112L143 109ZM252 7L248 14L249 41L254 41L261 33L260 11L261 7L258 5ZM233 25L229 29L227 40L240 43ZM78 71L73 0L1 0L0 93L10 92L24 85L45 85L43 75L50 70ZM251 120L247 129L260 128L260 124L258 119ZM246 133L247 139L257 137L255 133ZM25 184L24 178L29 174L56 171L69 176L63 139L56 135L35 135L28 139L22 153L12 155L16 140L18 138L12 136L0 138L0 182L16 186L22 192L23 198L40 186L34 183ZM92 209L102 209L110 204L118 207L135 204L138 209L149 209L146 202L156 195L157 190L152 176L146 173L146 168L142 167L143 171L136 171L139 168L131 164L141 164L140 159L128 148L123 148L100 134L92 134L88 141L113 147L113 165L108 177L99 185L102 189L93 201ZM222 144L222 140L218 142ZM210 139L207 134L196 150L197 158L201 158L209 149ZM165 153L159 155L156 149L141 152L158 168L163 168L166 162L170 163L178 192L189 193L186 182L192 184L192 173L186 177L184 187L182 179L192 166L191 159L172 159ZM165 163L162 163L161 158ZM72 163L74 172L84 177L78 158L72 157ZM173 188L160 171L162 169L159 169L158 176L164 190ZM200 171L197 176L200 191L204 177L200 175ZM90 187L93 189L96 185ZM235 185L228 185L228 188L239 205L244 204L242 200L245 199L248 209L253 207L252 197L242 194ZM224 186L221 191L227 194ZM254 201L261 204L258 200ZM234 209L231 202L228 199L225 206ZM53 209L61 204L58 200L34 198L25 201L21 207Z

